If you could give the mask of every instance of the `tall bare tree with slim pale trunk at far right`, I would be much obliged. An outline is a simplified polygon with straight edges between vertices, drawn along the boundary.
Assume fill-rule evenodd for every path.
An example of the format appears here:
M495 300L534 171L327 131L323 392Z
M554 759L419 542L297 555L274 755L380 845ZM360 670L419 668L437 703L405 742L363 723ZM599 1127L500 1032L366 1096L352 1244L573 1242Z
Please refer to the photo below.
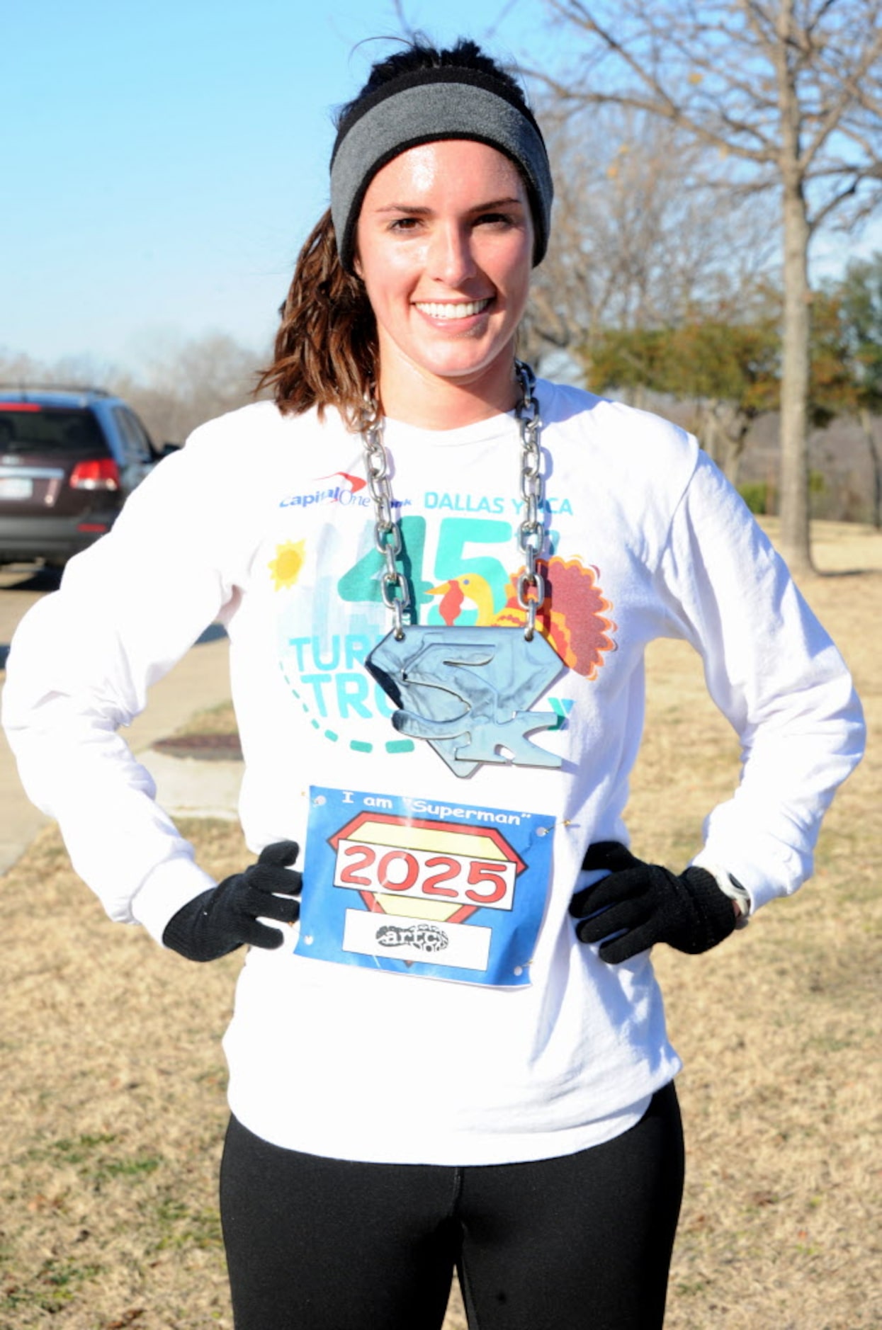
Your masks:
M882 197L882 0L548 0L581 39L563 106L648 112L714 148L733 193L774 190L782 223L781 540L811 568L809 245Z

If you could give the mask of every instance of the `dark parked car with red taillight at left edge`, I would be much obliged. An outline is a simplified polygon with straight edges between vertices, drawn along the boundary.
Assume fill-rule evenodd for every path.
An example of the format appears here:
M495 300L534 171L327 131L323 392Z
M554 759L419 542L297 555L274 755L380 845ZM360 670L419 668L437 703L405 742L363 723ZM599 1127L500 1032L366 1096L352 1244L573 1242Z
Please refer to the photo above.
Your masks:
M110 529L158 456L109 392L0 384L0 564L63 567Z

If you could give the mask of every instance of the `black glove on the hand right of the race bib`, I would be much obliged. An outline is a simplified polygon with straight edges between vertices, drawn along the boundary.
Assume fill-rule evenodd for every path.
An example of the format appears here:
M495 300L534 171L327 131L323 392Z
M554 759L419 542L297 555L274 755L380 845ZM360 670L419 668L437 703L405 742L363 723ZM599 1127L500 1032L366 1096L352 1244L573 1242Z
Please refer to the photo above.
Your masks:
M609 964L629 960L656 942L693 955L709 951L736 926L732 899L705 868L686 868L677 876L668 868L635 859L617 841L588 847L583 868L608 868L609 876L577 891L569 912L580 942L603 942L600 959ZM597 912L600 911L600 912Z

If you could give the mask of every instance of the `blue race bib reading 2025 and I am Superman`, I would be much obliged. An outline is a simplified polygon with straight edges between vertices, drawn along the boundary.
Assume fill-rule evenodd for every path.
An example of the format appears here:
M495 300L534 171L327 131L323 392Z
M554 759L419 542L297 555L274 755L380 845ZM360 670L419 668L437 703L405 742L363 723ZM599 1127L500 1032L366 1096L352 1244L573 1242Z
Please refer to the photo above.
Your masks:
M310 789L299 956L516 988L545 910L555 819Z

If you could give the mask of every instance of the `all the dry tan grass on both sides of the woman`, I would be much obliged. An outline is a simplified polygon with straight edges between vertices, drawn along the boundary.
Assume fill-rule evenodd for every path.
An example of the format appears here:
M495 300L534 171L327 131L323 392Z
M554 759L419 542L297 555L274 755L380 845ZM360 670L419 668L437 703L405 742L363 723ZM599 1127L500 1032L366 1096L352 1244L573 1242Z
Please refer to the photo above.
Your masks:
M796 898L706 956L659 948L688 1145L668 1330L882 1327L882 536L815 535L826 576L804 591L851 665L870 750ZM637 853L680 866L736 771L696 657L656 645ZM218 876L242 863L229 823L185 831ZM3 879L0 928L0 1330L231 1327L216 1173L239 959L190 966L110 926L53 829ZM446 1326L464 1327L455 1290Z

